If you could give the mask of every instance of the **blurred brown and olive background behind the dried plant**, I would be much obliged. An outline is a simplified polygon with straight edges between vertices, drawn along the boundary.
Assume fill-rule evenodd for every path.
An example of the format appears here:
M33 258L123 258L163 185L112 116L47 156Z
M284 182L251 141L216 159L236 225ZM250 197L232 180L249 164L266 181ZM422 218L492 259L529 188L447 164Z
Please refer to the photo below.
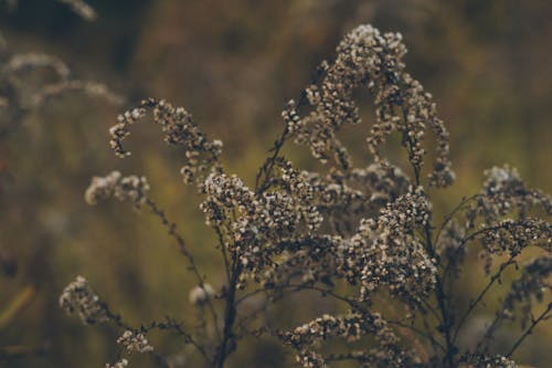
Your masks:
M450 130L458 179L435 192L438 209L476 192L482 171L503 162L552 192L551 1L91 0L98 13L93 22L56 1L9 3L0 1L9 53L56 55L74 77L104 83L126 103L67 93L3 123L0 367L102 367L115 360L117 330L84 327L57 306L76 275L135 324L166 315L193 320L193 280L164 229L128 203L87 207L83 193L95 175L146 175L151 197L180 224L210 283L223 283L195 190L180 179L181 153L144 124L129 139L131 158L115 158L107 130L117 113L148 96L184 106L210 137L224 141L227 171L251 185L284 127L285 102L299 96L319 62L360 23L404 35L407 69L434 95ZM369 104L362 114L365 133ZM358 136L351 135L351 145L365 159L364 136ZM301 167L311 165L304 149L288 155ZM465 284L466 295L479 290L478 272ZM298 315L321 308L301 303ZM476 325L488 317L481 311ZM163 354L181 347L170 335L152 340ZM541 326L517 357L545 367L551 344L550 324ZM232 366L287 366L280 357L289 351L269 341L251 346L237 350ZM131 366L153 361L136 356Z

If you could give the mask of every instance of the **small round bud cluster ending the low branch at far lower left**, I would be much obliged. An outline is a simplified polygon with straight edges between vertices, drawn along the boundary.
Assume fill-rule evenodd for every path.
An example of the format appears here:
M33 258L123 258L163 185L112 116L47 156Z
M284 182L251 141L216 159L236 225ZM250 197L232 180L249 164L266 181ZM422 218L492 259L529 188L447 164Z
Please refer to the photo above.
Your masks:
M78 312L81 320L87 325L110 319L107 306L94 293L83 276L77 276L63 290L60 306L67 314Z

